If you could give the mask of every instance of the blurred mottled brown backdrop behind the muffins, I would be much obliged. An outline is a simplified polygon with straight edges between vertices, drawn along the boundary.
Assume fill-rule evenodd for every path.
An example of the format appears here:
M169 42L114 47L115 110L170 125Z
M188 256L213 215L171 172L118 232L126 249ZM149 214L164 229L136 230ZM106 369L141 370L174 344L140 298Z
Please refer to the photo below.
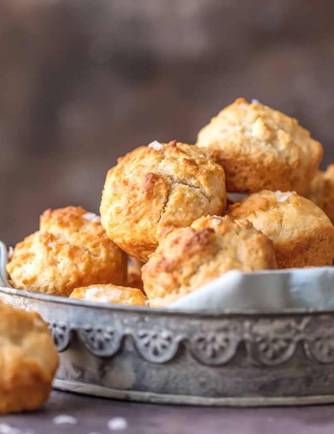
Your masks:
M107 169L194 143L236 97L300 120L334 161L332 0L0 1L0 239L47 207L98 212Z

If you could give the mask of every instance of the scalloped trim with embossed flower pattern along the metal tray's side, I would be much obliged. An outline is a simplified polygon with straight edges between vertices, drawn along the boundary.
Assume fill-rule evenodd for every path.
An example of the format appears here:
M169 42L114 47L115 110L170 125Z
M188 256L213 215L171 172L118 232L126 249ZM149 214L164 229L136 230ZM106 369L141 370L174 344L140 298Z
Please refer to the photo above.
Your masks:
M311 322L313 318L312 317L306 317L303 319L302 324L298 324L297 322L291 323L291 319L280 319L279 323L281 325L284 325L284 322L293 324L293 329L291 330L290 334L284 332L280 335L280 333L275 332L275 330L270 331L270 336L268 339L268 334L261 334L258 331L253 332L252 329L254 326L261 323L261 319L257 322L255 321L252 325L249 324L248 321L244 322L238 333L238 331L231 330L228 332L232 337L235 335L235 338L231 339L230 348L224 348L221 351L221 354L218 354L216 357L208 356L206 357L205 354L203 355L203 352L196 349L196 339L197 335L205 336L205 332L201 332L198 334L194 334L193 336L184 335L182 333L175 333L170 330L161 329L161 330L154 330L153 338L155 339L153 345L153 348L156 348L156 339L159 338L159 334L166 334L168 333L169 336L171 336L170 344L166 346L166 348L163 348L163 351L159 352L156 350L156 353L154 353L154 350L152 350L152 345L149 341L146 339L146 344L143 345L142 338L140 337L140 330L132 330L132 329L125 329L122 333L119 333L116 329L113 329L111 326L108 326L110 329L113 330L114 336L111 341L107 342L105 346L103 346L100 349L96 349L94 346L90 345L90 339L87 338L87 328L94 330L96 329L99 333L101 333L102 327L95 327L95 326L84 326L84 327L75 327L75 326L68 326L66 330L63 332L64 336L61 339L61 344L56 344L57 349L59 352L65 351L71 341L71 337L73 332L77 333L78 338L80 339L81 343L84 345L84 347L93 355L96 355L98 357L112 357L114 356L122 347L123 341L126 338L132 338L134 345L138 351L138 354L147 362L150 363L157 363L157 364L163 364L166 362L170 362L178 352L180 348L180 344L184 343L185 350L188 350L190 354L194 357L194 359L202 364L202 365L209 365L209 366L221 366L229 363L232 358L236 355L238 348L240 346L240 343L245 343L246 351L248 357L250 357L253 361L257 363L261 363L265 366L279 366L286 362L288 362L295 354L296 349L302 345L302 348L304 349L305 355L315 362L321 363L321 364L333 364L334 363L334 356L330 357L324 357L321 353L317 352L314 349L314 340L315 339L321 339L320 336L320 327L318 327L317 331L313 334L306 334L304 329L307 327L307 325ZM327 317L328 319L328 317ZM334 326L334 319L330 319L331 323ZM53 325L57 326L57 323L53 322ZM63 326L63 324L61 324ZM256 327L255 327L256 328ZM55 328L53 329L55 330ZM103 329L102 329L103 330ZM150 330L148 330L150 331ZM329 339L329 341L332 339L332 345L330 345L331 348L334 348L334 333L328 334L328 329L326 330L327 333L324 334L323 338L326 340ZM334 331L334 328L333 328ZM211 333L221 333L221 327L219 329L211 329ZM152 333L151 333L152 334ZM158 336L157 336L158 334ZM53 336L55 333L53 333ZM261 349L259 349L258 346L258 337L263 337L263 339L268 339L268 347L270 347L273 340L275 343L279 341L280 339L284 339L284 342L286 345L286 349L283 351L279 351L278 355L275 355L275 350L273 350L271 353L273 354L272 357L268 357L265 353L261 352ZM163 339L165 337L162 336ZM271 340L270 340L271 339ZM54 339L56 341L56 339ZM290 343L289 343L290 341ZM165 342L165 341L164 341ZM208 344L210 345L210 342ZM287 344L286 344L287 342ZM275 344L276 345L276 344ZM161 345L159 345L159 348L161 348Z

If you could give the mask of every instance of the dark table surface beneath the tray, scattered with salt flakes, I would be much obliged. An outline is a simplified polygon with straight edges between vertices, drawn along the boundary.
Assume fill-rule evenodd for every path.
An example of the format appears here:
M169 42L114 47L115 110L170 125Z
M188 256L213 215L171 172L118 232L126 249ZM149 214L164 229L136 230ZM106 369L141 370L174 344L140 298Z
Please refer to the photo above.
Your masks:
M56 425L66 414L76 424ZM108 422L124 418L127 428ZM123 421L124 422L124 421ZM205 408L137 404L53 391L39 411L0 417L0 434L333 434L334 405L277 408Z

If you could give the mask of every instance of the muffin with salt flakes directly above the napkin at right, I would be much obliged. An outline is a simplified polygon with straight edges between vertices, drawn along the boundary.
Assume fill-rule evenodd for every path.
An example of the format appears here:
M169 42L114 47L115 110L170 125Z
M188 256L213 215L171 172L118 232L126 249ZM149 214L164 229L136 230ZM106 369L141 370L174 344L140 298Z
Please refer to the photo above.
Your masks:
M333 263L333 225L317 205L294 192L254 193L231 205L228 214L248 219L272 240L279 268Z

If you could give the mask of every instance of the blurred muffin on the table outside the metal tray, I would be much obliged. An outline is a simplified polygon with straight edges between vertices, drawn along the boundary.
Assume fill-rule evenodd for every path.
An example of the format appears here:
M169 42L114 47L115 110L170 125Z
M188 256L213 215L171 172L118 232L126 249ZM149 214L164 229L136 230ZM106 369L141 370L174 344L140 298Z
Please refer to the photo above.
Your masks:
M58 361L40 315L0 301L0 413L39 408L49 396Z

